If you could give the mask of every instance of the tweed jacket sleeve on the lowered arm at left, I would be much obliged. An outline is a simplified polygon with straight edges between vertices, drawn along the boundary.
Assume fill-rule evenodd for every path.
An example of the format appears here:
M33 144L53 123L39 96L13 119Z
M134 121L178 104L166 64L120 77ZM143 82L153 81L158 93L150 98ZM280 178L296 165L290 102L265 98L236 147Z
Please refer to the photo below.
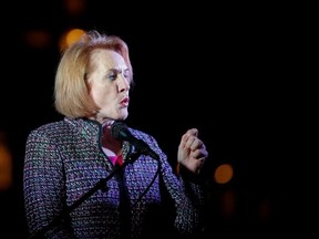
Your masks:
M25 217L32 238L72 238L68 233L65 208L65 181L63 163L54 142L38 131L27 138L23 193ZM55 222L53 222L55 221Z

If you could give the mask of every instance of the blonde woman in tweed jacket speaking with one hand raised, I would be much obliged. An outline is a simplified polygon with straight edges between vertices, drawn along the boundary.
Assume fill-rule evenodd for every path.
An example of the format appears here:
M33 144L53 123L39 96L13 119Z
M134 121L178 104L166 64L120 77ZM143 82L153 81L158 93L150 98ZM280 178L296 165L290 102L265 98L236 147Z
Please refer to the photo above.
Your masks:
M181 175L174 174L153 136L123 124L132 84L128 48L119 37L89 31L64 51L54 105L65 117L27 139L31 237L186 238L203 230L197 177L206 147L197 129L188 129L178 146Z

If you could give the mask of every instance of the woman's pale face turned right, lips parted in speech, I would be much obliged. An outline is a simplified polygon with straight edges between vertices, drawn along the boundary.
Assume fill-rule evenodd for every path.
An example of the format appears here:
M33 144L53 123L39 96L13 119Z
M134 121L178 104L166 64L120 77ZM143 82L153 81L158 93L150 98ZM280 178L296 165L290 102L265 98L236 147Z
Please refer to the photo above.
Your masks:
M97 49L91 54L93 72L89 75L90 95L101 108L94 119L100 123L123 121L128 116L130 71L122 55Z

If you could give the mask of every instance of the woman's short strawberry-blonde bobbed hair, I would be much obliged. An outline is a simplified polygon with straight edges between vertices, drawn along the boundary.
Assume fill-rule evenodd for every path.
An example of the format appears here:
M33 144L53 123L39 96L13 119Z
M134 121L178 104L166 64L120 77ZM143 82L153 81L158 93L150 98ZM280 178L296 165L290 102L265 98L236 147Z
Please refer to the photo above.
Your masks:
M90 55L93 50L105 49L117 52L130 70L133 83L133 70L127 44L116 35L88 31L79 41L70 45L62 54L54 83L54 107L68 117L90 117L100 108L89 93L86 75L90 71Z

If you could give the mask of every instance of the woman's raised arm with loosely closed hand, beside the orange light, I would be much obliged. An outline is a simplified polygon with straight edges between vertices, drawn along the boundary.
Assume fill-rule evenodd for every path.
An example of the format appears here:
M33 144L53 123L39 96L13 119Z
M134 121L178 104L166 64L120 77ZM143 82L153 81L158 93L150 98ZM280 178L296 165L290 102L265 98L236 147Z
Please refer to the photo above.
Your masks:
M158 148L157 143L152 142ZM166 155L161 155L161 176L175 205L174 227L182 238L194 238L204 227L204 184L197 180L200 168L208 156L205 145L197 138L197 129L189 129L183 135L178 146L177 160L181 165L179 180L174 174Z

